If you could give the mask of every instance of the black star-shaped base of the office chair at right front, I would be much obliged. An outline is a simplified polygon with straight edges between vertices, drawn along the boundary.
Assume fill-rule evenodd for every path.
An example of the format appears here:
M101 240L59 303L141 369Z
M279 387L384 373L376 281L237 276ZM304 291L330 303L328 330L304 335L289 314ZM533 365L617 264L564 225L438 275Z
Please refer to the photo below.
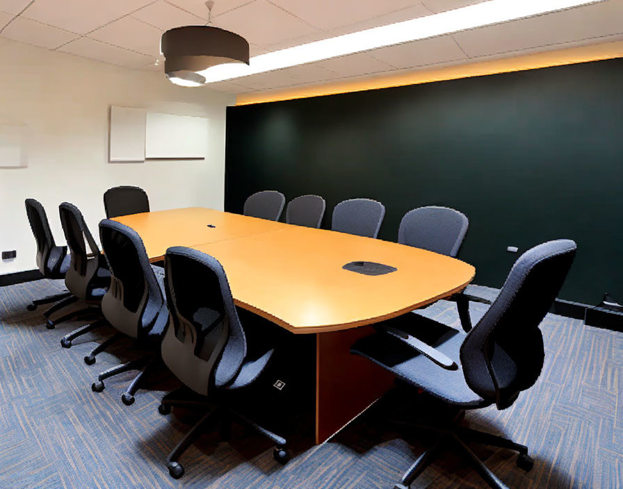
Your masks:
M467 446L466 442L474 442L478 445L487 445L489 447L499 447L519 452L517 456L517 467L526 472L530 471L534 465L533 459L528 456L528 447L519 445L512 440L503 438L502 436L478 431L467 426L460 425L464 417L465 411L456 410L455 415L451 417L451 421L446 423L430 423L423 421L391 423L400 424L409 429L418 431L428 431L435 433L437 438L432 445L421 454L416 461L409 467L409 470L403 475L401 483L394 486L394 489L409 489L415 479L431 465L437 456L444 450L451 450L455 454L469 463L471 467L478 472L480 477L495 489L508 489L500 479L483 463L483 461L474 454L474 451Z

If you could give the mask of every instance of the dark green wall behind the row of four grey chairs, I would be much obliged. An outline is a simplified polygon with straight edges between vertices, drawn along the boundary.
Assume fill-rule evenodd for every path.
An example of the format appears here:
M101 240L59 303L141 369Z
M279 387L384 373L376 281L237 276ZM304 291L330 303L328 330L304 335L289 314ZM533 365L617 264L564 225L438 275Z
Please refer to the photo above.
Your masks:
M460 258L499 287L520 251L578 242L560 297L623 300L623 60L227 109L225 209L248 195L370 197L469 217ZM416 280L416 277L414 277Z

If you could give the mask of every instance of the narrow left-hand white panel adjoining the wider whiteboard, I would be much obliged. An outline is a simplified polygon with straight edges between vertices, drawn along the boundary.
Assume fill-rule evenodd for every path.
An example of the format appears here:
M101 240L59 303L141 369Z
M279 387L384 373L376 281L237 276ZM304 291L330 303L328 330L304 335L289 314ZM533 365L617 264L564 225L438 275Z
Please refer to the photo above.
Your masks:
M111 107L110 161L145 161L145 109Z

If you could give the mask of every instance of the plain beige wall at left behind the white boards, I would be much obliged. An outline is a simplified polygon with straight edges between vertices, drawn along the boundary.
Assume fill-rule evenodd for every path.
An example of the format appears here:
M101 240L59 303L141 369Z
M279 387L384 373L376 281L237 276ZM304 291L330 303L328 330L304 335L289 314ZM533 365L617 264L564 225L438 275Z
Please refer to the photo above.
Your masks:
M0 274L35 268L35 242L24 211L33 197L47 210L57 242L65 239L58 204L78 206L93 235L104 216L102 194L138 185L153 210L223 208L225 107L235 97L172 85L160 72L115 67L0 39L0 124L26 124L28 167L0 168ZM111 105L209 118L205 160L108 163Z

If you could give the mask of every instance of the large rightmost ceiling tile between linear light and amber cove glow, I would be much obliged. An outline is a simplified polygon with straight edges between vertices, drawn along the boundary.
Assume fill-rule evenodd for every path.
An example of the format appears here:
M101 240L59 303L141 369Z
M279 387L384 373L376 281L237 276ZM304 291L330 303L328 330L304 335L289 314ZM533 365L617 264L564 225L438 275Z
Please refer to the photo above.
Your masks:
M596 3L453 34L470 57L623 33L623 1Z

